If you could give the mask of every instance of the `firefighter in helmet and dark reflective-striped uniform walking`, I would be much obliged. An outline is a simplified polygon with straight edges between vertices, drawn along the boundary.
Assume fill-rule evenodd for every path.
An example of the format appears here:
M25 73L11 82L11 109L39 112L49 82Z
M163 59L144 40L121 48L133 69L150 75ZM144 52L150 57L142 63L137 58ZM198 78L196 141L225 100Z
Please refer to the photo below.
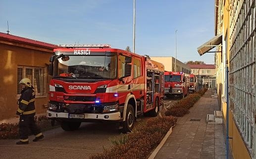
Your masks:
M16 112L16 115L19 115L19 135L20 140L16 142L17 145L28 144L28 135L29 129L31 132L36 136L33 139L33 142L36 142L42 138L44 135L42 134L41 130L37 127L35 122L35 91L33 90L34 87L30 79L23 78L20 82L22 85L22 91L20 98L18 99L17 104L19 108Z

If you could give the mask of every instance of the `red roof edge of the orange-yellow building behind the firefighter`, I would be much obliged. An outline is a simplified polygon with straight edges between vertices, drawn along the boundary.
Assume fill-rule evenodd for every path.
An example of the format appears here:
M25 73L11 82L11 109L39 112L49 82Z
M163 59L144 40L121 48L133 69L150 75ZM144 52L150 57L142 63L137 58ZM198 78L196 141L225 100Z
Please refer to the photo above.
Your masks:
M0 32L0 39L6 40L6 41L11 41L11 42L26 43L26 44L30 44L33 46L41 46L41 47L49 48L49 49L57 48L57 45L54 45L54 44L49 44L46 42L32 40L32 39L28 39L25 37L15 36L15 35L3 33L3 32Z

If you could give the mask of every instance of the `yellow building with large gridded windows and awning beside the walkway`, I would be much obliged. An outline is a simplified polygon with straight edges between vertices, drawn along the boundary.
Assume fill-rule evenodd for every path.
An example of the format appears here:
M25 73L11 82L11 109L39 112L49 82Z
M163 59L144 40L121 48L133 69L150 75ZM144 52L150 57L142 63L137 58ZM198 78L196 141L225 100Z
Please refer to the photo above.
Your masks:
M218 101L234 159L256 159L255 3L215 0L215 37L198 48L203 55L216 47Z

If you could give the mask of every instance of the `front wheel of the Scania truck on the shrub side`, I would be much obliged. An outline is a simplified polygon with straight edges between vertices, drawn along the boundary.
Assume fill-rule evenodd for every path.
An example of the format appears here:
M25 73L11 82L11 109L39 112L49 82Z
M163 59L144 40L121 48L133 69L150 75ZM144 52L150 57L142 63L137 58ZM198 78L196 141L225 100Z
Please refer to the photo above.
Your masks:
M134 127L134 122L135 122L134 109L131 104L128 104L126 109L125 121L123 122L122 132L123 133L131 132L132 128Z

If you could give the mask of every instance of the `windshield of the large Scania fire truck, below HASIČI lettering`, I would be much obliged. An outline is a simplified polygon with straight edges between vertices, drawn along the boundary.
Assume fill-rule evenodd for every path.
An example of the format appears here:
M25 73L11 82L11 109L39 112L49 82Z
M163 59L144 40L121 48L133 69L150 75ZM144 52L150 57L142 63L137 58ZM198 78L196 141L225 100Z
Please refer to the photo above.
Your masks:
M102 55L81 56L81 55L65 55L69 60L59 58L58 65L54 65L54 69L58 72L54 77L67 77L77 79L114 79L116 78L116 54L109 53Z

